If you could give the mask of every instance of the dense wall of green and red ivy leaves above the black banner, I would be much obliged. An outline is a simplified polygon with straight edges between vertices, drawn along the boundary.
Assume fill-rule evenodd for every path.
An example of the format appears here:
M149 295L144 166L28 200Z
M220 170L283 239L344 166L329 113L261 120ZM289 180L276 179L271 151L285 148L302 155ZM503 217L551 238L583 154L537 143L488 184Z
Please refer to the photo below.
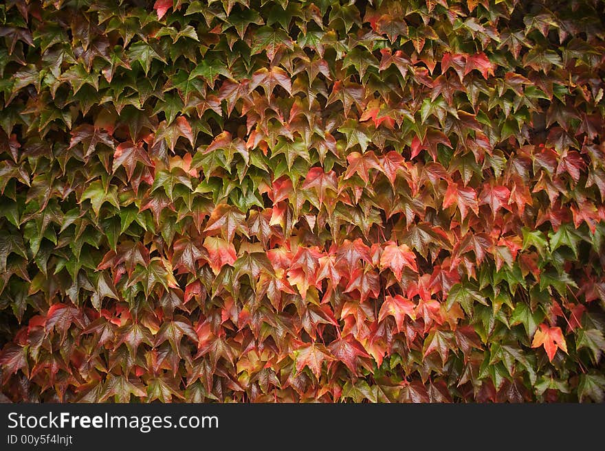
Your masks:
M0 5L0 397L602 401L605 4Z

